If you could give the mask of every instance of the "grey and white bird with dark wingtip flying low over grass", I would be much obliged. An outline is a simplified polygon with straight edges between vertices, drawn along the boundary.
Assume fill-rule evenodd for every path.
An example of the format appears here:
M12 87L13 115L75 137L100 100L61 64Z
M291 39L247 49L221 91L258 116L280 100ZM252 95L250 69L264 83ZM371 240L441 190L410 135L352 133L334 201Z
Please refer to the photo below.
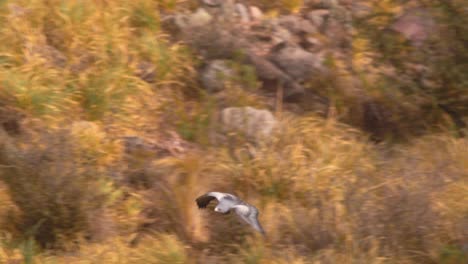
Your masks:
M215 207L215 212L228 214L234 211L242 220L251 225L255 230L265 235L265 231L258 222L258 210L255 206L250 205L237 196L229 193L208 192L196 199L198 208L203 209L212 201L217 200L218 205Z

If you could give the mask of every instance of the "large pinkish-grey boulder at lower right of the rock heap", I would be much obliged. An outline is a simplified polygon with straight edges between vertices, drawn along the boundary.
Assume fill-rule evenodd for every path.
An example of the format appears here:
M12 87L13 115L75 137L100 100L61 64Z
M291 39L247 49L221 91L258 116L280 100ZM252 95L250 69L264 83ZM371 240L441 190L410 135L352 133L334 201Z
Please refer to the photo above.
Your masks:
M272 51L270 60L296 82L307 80L313 72L322 70L322 58L301 47L277 47Z

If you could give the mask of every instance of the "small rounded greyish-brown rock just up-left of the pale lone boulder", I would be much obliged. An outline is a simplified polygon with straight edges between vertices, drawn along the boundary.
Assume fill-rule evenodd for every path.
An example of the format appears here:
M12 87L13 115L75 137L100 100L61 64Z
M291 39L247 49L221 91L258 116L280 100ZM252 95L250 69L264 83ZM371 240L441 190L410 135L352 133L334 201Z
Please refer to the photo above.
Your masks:
M226 81L232 79L233 75L226 61L213 60L202 71L201 82L209 92L218 92L225 88Z

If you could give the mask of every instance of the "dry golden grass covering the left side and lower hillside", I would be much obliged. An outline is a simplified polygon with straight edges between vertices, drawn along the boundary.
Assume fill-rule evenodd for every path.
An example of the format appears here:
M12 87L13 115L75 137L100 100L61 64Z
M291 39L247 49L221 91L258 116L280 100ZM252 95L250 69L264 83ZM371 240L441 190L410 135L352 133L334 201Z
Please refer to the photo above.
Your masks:
M249 69L224 93L200 91L195 57L159 24L192 2L0 1L0 108L23 116L19 134L0 127L0 263L467 261L466 138L379 145L341 115L285 112L268 141L225 140L222 107L268 103L241 88L256 87ZM175 144L175 132L190 141L176 154L122 141ZM211 190L257 206L267 237L198 210Z

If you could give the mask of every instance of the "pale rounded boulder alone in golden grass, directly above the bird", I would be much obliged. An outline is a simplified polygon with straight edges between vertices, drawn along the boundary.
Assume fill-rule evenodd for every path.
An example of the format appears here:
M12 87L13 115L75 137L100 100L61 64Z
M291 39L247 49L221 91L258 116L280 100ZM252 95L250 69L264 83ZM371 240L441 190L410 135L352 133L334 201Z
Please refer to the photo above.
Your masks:
M276 118L268 110L247 107L228 107L221 112L225 131L238 131L259 142L272 134Z

